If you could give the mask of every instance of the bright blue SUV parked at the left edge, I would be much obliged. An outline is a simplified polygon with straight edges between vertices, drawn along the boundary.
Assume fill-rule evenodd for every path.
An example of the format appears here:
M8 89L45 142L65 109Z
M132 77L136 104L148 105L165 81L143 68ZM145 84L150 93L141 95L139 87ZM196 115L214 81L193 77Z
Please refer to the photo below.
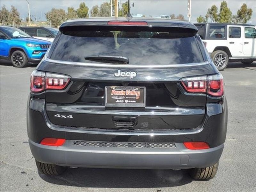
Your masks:
M0 27L0 59L11 60L14 67L39 63L51 42L33 38L18 28Z

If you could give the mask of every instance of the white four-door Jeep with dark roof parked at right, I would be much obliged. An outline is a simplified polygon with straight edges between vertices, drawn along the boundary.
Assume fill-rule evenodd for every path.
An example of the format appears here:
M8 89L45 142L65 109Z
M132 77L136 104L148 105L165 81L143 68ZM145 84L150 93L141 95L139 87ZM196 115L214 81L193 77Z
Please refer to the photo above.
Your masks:
M247 24L196 23L198 33L219 71L229 61L256 61L256 27Z

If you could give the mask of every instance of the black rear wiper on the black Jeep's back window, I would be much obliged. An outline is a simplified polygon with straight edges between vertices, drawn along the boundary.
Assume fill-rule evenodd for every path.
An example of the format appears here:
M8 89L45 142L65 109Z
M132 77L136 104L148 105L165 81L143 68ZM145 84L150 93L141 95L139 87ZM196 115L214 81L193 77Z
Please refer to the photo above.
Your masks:
M93 55L93 56L85 57L84 59L91 60L91 61L101 61L104 63L121 63L121 64L129 63L129 58L124 56Z

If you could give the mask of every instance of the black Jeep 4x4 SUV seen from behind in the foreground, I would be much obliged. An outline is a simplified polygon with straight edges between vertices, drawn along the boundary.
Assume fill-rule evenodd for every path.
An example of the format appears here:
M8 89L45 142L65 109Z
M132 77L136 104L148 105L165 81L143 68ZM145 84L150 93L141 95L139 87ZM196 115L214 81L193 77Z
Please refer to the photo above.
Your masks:
M208 180L226 138L223 84L187 21L68 20L31 75L37 168L189 169Z

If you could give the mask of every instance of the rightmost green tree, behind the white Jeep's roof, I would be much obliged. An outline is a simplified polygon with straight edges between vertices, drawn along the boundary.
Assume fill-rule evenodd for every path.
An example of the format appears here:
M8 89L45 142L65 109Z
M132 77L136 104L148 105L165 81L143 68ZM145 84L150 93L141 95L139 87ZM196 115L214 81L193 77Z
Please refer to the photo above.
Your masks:
M236 12L236 15L233 16L233 19L236 23L247 23L252 17L252 9L247 8L247 4L243 4L241 8Z

